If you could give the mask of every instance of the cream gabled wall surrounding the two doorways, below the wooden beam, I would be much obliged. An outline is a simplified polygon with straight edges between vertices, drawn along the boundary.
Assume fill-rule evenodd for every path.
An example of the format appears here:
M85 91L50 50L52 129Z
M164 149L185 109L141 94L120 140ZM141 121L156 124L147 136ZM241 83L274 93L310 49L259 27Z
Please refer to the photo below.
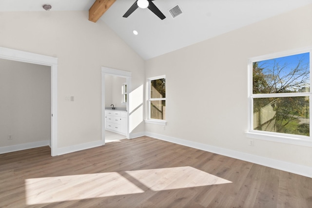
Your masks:
M133 89L143 84L143 59L88 11L1 12L0 28L1 47L58 57L58 148L101 140L102 66L132 72Z

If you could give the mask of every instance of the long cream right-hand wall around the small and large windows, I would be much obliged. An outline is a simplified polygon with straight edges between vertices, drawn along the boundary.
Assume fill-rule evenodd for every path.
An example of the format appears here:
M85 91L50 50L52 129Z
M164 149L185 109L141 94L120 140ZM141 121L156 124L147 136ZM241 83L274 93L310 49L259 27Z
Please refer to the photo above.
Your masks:
M146 132L312 167L312 148L255 140L249 146L248 59L312 46L312 5L146 61L166 75L165 130Z

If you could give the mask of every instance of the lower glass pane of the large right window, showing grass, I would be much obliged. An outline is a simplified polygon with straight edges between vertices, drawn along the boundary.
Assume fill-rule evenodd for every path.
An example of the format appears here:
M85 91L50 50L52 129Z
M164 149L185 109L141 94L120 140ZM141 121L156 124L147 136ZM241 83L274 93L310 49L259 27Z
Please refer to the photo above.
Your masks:
M310 135L309 97L254 98L254 130Z

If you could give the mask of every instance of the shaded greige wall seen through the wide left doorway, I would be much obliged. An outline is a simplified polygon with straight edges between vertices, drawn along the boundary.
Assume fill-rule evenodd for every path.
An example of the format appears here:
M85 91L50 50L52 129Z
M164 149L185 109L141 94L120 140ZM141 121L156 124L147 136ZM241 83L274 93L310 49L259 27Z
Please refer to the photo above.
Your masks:
M51 140L51 67L0 58L0 97L0 147Z

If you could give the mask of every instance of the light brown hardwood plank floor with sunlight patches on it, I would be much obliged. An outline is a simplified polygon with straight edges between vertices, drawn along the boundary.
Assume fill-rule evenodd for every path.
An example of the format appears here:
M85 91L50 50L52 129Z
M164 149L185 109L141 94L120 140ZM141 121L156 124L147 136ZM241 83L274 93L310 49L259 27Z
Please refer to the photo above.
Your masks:
M312 208L312 178L140 137L0 154L0 207Z

